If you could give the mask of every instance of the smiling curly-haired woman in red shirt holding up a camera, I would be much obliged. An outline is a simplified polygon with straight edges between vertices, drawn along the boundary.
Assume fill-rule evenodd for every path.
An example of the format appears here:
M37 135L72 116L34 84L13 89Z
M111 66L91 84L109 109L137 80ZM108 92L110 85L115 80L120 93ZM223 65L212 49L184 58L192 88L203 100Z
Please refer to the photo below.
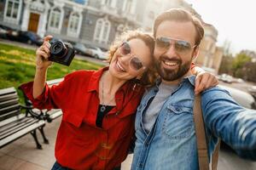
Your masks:
M75 71L51 88L45 84L51 37L38 48L34 82L22 88L35 107L63 112L53 169L114 169L125 160L137 105L144 87L155 79L154 39L138 31L125 36L110 49L109 67ZM201 78L215 85L216 79L208 76Z

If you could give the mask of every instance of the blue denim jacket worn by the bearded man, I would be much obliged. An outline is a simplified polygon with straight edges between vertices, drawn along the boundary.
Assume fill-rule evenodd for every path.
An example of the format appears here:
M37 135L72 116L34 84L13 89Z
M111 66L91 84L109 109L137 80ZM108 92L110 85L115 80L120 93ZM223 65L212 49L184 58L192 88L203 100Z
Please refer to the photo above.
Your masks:
M137 108L136 146L131 169L199 169L193 118L195 76L184 78L166 99L149 133L143 128L143 114L158 92L158 85L143 96ZM218 138L238 155L256 160L256 111L236 103L224 89L208 88L201 93L201 109L207 133L208 156Z

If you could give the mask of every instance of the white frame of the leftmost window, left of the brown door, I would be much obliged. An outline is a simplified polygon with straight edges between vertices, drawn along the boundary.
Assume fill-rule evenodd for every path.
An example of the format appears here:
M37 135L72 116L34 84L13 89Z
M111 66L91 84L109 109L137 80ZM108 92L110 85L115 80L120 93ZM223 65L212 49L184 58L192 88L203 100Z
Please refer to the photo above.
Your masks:
M8 4L10 2L13 2L13 6L12 6L12 10L11 10L11 15L13 15L13 13L14 13L14 3L17 3L17 1L16 0L6 0L5 7L4 7L3 20L6 21L6 22L9 22L9 23L18 24L19 20L20 20L20 14L21 14L21 8L22 8L22 0L19 0L19 7L18 7L17 17L16 18L13 18L12 16L11 17L7 16Z

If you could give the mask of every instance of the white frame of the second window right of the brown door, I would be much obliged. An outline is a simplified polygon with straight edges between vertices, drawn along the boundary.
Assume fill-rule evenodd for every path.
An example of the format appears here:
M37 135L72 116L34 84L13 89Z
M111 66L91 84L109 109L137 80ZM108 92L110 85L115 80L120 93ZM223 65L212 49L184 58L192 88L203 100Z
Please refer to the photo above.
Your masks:
M78 30L77 31L73 31L70 27L72 22L73 22L73 14L78 14L79 15L79 22L78 22ZM83 15L81 13L73 11L70 14L70 17L69 17L69 20L68 20L68 25L67 25L67 36L69 36L69 37L79 37L79 33L81 31L82 20L83 20Z

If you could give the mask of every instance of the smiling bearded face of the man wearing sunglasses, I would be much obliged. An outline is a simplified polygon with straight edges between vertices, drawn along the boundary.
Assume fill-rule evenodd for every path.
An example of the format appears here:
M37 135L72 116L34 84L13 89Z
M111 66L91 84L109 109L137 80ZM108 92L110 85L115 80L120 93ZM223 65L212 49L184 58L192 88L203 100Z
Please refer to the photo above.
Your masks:
M195 47L195 26L192 22L166 20L155 34L154 62L160 77L175 81L189 71Z

